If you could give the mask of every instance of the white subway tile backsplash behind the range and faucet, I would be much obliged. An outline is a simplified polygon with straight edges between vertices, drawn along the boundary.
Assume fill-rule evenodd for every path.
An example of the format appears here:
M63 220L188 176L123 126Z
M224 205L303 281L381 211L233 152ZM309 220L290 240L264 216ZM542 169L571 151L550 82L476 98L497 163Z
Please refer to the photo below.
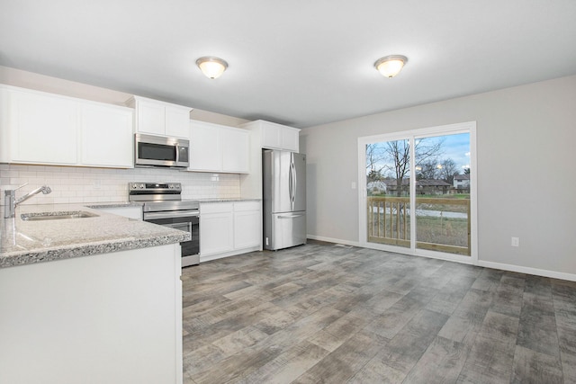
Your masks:
M159 168L109 169L74 166L0 164L0 189L28 183L16 197L47 184L49 194L39 193L23 204L128 201L128 183L182 183L183 199L236 199L238 174L209 174Z

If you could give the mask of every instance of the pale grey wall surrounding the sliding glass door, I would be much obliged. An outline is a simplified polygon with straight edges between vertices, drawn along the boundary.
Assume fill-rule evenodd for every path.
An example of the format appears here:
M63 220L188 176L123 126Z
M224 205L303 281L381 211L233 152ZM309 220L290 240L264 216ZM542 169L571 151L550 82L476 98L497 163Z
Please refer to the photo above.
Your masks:
M358 137L464 121L477 121L479 263L576 280L576 76L303 129L308 233L358 242Z

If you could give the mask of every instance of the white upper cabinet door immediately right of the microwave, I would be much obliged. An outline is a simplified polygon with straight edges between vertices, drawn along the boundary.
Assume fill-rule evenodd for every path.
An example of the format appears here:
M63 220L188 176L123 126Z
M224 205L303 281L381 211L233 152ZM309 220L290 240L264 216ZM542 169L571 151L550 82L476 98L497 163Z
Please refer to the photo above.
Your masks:
M201 121L190 122L191 171L220 172L222 168L222 149L220 129Z

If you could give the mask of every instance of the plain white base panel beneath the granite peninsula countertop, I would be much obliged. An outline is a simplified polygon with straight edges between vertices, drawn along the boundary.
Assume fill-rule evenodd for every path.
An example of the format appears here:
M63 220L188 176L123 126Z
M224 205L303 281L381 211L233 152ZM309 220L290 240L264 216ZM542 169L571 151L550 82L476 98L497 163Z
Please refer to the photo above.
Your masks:
M1 383L182 383L178 244L0 268Z

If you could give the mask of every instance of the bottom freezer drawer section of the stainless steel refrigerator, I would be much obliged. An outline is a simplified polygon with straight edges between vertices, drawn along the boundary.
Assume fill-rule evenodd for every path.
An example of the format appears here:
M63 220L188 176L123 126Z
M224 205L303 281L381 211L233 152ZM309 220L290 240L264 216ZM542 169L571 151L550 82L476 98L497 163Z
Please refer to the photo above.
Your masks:
M277 250L306 244L306 212L272 214L271 228L265 233L266 249Z

